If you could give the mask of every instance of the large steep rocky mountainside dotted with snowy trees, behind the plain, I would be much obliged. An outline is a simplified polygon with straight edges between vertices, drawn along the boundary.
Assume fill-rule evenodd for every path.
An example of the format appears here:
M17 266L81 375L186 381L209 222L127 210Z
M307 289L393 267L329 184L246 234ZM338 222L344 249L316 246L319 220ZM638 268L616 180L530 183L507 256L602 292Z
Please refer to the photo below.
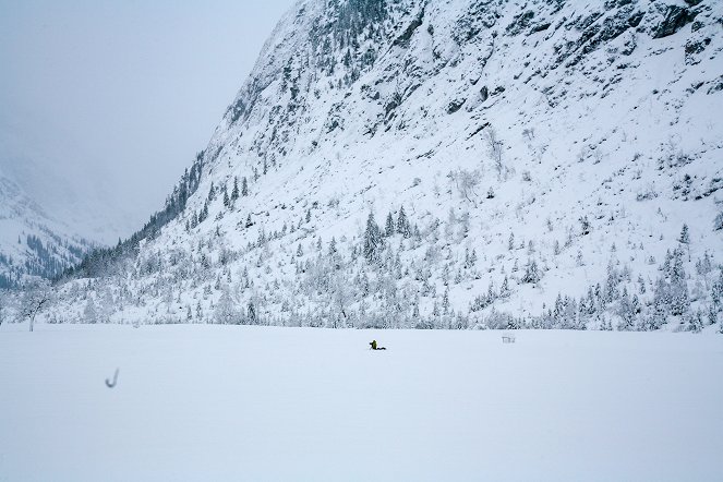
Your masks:
M302 0L200 178L47 316L699 329L721 50L713 0Z

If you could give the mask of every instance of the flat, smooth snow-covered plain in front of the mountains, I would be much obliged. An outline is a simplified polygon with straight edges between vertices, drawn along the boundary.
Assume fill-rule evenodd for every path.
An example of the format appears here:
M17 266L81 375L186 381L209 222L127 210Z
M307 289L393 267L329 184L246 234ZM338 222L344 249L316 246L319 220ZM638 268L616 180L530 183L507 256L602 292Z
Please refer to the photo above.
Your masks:
M723 480L712 332L26 330L0 481Z

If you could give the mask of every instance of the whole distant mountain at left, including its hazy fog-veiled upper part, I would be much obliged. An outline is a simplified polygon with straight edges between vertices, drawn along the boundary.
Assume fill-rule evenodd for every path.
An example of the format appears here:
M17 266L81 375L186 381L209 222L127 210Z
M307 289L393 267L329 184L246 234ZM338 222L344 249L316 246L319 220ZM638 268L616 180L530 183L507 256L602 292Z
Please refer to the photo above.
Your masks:
M108 169L56 129L0 121L0 287L56 277L137 228Z

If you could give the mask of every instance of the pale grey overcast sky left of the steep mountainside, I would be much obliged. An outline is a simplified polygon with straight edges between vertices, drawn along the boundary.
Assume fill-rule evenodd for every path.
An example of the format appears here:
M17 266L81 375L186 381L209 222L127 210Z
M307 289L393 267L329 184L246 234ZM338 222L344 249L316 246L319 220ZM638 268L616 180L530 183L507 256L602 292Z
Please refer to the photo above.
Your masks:
M0 0L0 168L58 204L107 195L129 234L206 146L293 2ZM69 189L43 188L65 174Z

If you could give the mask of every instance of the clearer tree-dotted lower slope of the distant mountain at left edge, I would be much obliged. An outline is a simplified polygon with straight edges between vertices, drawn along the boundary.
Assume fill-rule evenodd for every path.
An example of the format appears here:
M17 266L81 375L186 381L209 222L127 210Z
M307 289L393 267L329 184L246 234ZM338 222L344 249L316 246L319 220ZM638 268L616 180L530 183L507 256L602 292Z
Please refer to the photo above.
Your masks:
M71 232L0 173L0 289L80 263L94 244Z

